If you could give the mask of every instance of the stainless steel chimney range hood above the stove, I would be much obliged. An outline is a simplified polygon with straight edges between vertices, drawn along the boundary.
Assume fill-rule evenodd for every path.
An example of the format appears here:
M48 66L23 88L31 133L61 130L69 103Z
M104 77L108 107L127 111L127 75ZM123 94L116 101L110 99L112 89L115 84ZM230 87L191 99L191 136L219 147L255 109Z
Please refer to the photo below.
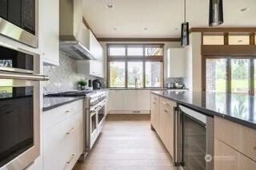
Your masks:
M90 34L82 22L82 0L60 1L60 50L76 60L94 60Z

